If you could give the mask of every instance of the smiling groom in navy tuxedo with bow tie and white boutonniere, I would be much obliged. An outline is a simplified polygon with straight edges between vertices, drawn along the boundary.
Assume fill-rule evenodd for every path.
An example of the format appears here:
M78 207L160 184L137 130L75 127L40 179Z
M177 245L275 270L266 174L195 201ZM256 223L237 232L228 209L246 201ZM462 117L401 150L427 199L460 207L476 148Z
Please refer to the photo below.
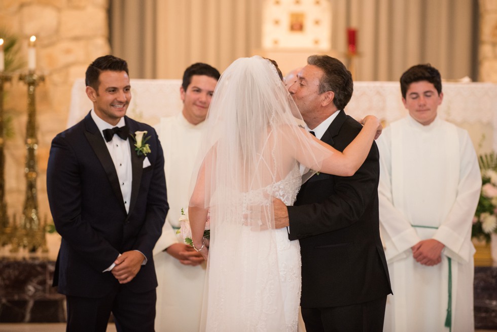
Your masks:
M106 55L86 71L89 114L52 141L47 190L62 236L54 286L67 298L67 331L153 331L152 249L168 205L155 130L127 116L125 60Z

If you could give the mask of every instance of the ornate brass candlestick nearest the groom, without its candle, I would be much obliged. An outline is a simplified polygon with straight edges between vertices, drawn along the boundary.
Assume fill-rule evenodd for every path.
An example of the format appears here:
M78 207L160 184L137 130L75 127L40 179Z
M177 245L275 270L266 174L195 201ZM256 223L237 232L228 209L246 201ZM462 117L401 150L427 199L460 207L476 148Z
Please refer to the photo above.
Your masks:
M28 74L21 74L19 80L27 85L27 123L26 123L26 196L24 200L23 212L20 219L17 237L17 245L27 248L29 252L34 252L42 247L45 250L45 227L40 223L38 217L38 191L37 178L38 166L36 152L38 150L37 123L36 123L36 103L35 90L40 82L45 80L43 75L37 75L33 70ZM15 251L15 246L12 247Z

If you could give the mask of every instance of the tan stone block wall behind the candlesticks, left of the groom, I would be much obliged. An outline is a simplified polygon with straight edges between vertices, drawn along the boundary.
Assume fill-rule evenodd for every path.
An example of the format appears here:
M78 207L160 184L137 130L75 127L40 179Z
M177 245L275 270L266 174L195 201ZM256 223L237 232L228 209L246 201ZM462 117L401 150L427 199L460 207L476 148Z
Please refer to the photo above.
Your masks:
M45 82L36 90L38 121L39 217L51 220L46 193L46 169L53 137L66 127L70 92L88 64L109 54L108 0L0 0L0 29L19 39L19 57L27 63L27 44L37 37L37 73ZM2 36L0 36L2 38ZM24 147L27 86L18 80L26 65L4 86L4 109L14 137L6 142L6 201L9 215L22 213L26 180Z

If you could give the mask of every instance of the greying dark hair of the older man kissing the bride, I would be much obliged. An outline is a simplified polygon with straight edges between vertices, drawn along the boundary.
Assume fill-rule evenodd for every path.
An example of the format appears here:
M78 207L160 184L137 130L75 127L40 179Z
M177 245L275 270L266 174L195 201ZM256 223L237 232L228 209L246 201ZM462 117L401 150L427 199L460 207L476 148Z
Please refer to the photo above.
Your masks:
M315 65L323 71L323 76L319 80L319 93L333 91L335 93L333 104L337 109L343 110L354 90L352 74L345 65L328 55L311 55L307 58L307 64Z

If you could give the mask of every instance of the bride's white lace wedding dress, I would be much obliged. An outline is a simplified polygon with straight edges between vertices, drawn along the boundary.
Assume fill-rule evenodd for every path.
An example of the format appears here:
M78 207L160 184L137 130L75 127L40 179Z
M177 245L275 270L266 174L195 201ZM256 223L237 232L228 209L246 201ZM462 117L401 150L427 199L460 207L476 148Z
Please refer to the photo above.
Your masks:
M293 205L300 185L296 163L285 179L243 194L240 203L265 204L270 194ZM236 247L226 247L232 243L236 229L217 230L209 251L209 264L222 268L208 272L206 330L297 331L301 290L298 241L288 239L287 228L254 231L247 226L241 228ZM256 247L258 256L252 250ZM224 263L232 261L238 263ZM233 279L238 282L231 284L229 280Z

